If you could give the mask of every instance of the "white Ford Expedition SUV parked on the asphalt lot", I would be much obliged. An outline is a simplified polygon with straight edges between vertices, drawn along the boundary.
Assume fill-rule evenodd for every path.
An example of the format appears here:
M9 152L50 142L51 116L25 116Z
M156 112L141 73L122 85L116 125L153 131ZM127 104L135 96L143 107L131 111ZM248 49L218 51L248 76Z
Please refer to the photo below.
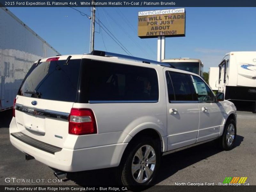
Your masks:
M217 139L234 147L236 107L218 98L200 76L168 63L100 51L56 56L28 71L10 140L59 177L117 167L124 185L150 185L163 154Z

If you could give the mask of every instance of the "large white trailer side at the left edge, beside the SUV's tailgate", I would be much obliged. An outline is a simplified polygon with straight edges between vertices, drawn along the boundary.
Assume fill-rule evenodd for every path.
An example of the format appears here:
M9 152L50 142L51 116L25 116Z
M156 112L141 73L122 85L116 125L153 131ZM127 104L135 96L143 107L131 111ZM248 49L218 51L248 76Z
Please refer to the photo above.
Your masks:
M35 60L59 55L5 7L0 7L0 111L12 108L20 84Z

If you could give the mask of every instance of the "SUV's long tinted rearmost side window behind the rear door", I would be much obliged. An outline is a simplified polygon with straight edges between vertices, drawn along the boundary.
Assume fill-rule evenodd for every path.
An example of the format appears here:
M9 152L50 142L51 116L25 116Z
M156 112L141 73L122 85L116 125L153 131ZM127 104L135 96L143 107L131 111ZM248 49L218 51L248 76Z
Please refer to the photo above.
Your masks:
M158 101L155 69L92 60L85 65L90 103Z

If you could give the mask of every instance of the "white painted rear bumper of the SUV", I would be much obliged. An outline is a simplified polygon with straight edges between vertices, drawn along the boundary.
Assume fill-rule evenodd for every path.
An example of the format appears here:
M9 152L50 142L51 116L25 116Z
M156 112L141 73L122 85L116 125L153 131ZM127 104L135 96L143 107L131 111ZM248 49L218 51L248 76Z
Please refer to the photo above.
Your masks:
M13 120L15 121L15 118ZM10 130L12 128L10 127ZM127 146L127 143L118 143L81 149L62 148L52 154L15 138L11 133L10 141L14 147L35 157L37 161L65 172L116 167Z

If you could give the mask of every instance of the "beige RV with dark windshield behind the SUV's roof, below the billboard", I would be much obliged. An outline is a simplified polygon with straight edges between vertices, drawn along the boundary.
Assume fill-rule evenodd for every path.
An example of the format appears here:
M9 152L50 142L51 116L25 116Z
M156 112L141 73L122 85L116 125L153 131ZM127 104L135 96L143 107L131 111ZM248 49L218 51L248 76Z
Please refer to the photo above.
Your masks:
M196 73L197 75L203 76L204 65L200 59L190 59L190 58L163 59L162 62L170 63L177 69L189 71L192 73Z

